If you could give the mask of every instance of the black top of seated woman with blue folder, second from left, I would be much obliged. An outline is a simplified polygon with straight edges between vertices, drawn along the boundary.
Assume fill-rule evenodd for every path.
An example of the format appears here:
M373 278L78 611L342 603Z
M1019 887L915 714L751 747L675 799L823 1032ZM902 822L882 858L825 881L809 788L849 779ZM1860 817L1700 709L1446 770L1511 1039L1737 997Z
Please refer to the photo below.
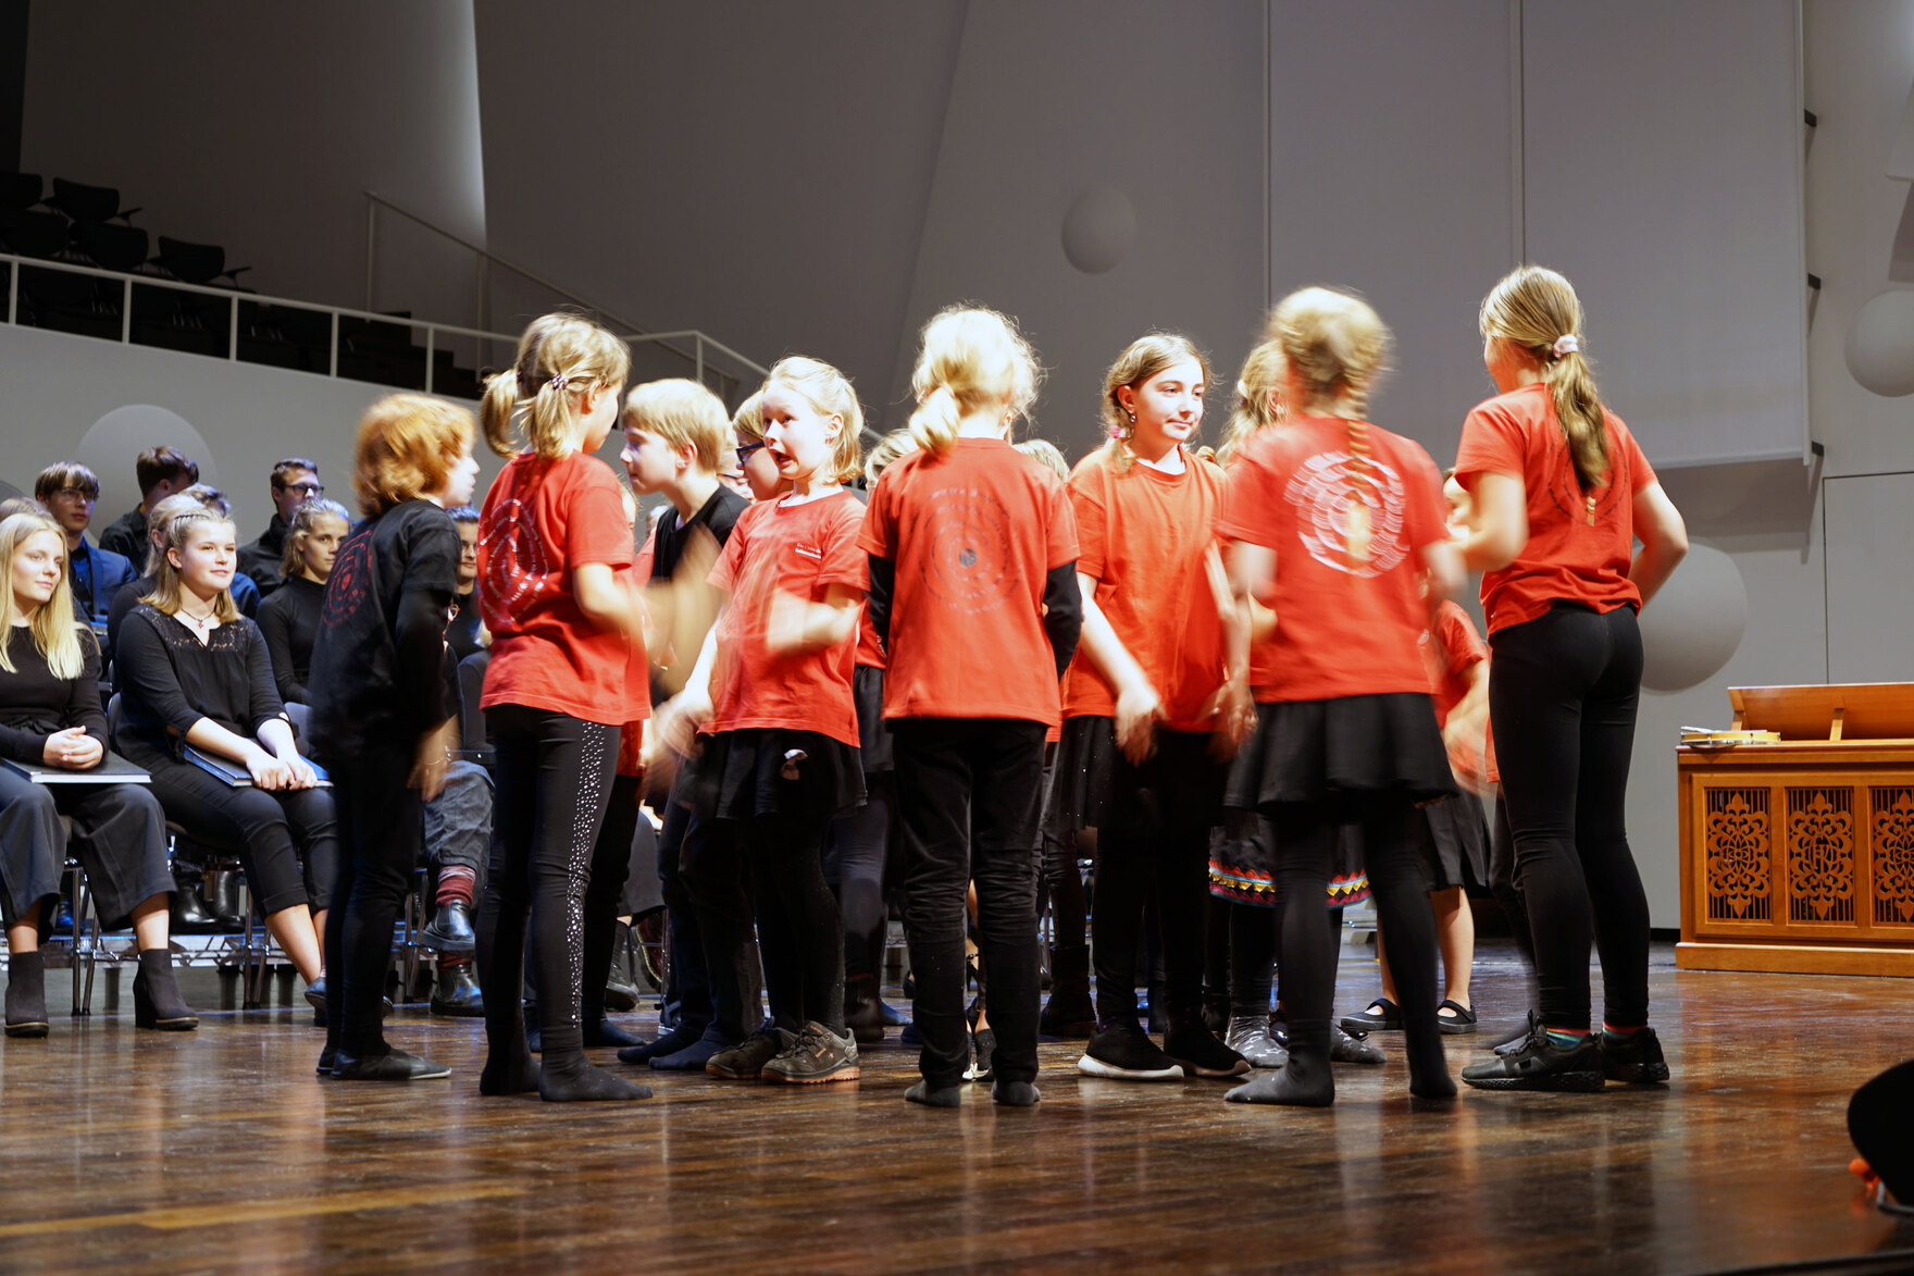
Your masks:
M182 621L140 604L121 627L113 671L121 690L113 743L128 759L180 757L199 718L256 738L262 722L285 717L266 640L245 617L220 625L201 644Z

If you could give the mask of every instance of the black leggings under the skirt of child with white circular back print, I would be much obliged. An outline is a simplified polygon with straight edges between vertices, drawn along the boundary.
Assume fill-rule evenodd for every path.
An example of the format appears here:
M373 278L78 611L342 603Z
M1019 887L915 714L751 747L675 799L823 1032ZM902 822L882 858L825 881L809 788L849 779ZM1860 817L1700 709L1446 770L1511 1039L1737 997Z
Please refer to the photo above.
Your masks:
M1436 1031L1436 914L1428 868L1416 851L1413 820L1422 812L1401 793L1342 793L1317 803L1269 807L1282 899L1282 1012L1290 1023L1328 1023L1336 1002L1336 931L1323 920L1323 897L1340 862L1338 828L1359 824L1376 920L1390 937L1403 1023Z

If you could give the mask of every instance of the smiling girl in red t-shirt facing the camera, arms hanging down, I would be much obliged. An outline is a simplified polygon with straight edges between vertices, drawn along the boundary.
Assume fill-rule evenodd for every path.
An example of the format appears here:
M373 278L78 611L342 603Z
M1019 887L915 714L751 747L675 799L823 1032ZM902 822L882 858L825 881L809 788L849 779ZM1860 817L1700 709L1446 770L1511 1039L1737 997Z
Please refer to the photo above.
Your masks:
M1250 1063L1202 1021L1210 830L1235 743L1217 736L1223 471L1185 443L1210 374L1187 337L1150 333L1104 377L1110 443L1070 475L1083 638L1064 676L1047 832L1097 830L1097 1033L1078 1071L1120 1081L1236 1077ZM1219 747L1221 743L1221 747ZM1154 891L1152 891L1154 887ZM1137 952L1154 893L1169 1027L1137 1023Z

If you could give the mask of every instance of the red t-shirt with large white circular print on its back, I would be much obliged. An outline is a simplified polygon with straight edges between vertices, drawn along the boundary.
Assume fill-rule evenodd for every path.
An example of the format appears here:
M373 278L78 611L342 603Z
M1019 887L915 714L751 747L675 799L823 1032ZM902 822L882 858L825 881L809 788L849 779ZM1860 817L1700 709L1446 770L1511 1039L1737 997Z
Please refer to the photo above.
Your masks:
M1259 433L1229 469L1221 533L1277 552L1277 632L1252 663L1257 701L1428 694L1420 552L1445 538L1441 477L1418 444L1367 427L1367 552L1351 544L1349 427L1300 418Z

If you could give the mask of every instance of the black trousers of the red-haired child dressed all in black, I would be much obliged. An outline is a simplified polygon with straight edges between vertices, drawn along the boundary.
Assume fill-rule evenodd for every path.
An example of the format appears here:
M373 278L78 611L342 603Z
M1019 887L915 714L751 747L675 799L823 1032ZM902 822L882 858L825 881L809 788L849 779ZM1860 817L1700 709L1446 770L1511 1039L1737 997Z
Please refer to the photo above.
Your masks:
M325 1044L366 1058L387 1054L385 975L392 964L392 923L419 864L425 810L406 787L410 749L373 747L329 761L339 812L341 856L325 914L331 998Z

